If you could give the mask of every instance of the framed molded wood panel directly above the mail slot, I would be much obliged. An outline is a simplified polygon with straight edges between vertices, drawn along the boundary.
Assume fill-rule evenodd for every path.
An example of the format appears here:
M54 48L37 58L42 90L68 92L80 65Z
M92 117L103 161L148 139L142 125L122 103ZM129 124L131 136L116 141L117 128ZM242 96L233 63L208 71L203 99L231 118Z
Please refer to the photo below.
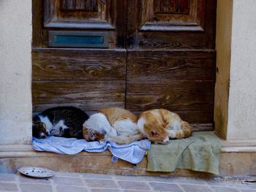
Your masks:
M76 0L78 3L78 0ZM115 29L116 0L106 4L94 0L93 5L79 1L80 4L64 3L64 0L45 0L45 28L94 28Z

